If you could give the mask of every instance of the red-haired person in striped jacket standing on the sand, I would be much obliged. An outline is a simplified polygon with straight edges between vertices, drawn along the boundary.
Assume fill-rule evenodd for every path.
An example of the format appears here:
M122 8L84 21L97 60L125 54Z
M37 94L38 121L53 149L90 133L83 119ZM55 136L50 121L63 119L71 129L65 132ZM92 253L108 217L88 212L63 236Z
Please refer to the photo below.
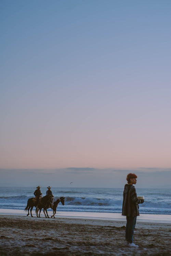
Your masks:
M139 247L133 243L133 234L136 224L136 216L139 216L139 205L144 203L143 199L138 199L133 184L136 184L137 176L134 173L127 175L127 182L123 191L122 215L127 216L126 241L129 247Z

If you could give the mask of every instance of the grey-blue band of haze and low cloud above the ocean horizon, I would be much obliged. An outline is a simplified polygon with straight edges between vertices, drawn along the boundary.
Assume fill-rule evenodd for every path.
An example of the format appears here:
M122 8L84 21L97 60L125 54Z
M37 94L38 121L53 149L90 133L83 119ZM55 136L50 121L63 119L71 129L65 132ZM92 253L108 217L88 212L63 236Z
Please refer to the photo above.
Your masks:
M52 187L123 187L129 172L136 173L140 188L170 188L171 169L139 168L94 169L66 168L53 170L0 170L0 186ZM72 182L72 183L71 183Z

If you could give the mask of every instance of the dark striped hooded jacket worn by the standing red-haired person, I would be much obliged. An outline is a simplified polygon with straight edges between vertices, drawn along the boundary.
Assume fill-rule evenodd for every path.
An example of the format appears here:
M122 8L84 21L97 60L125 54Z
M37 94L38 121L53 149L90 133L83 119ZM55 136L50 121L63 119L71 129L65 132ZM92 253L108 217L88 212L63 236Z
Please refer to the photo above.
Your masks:
M139 205L141 200L137 198L133 185L126 184L123 191L122 215L128 217L139 216Z

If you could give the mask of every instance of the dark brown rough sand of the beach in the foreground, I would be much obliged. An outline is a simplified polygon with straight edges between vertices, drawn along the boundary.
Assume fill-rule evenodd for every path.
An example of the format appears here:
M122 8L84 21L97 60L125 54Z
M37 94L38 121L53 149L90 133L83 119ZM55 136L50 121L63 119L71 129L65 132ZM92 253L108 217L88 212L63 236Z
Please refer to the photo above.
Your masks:
M134 242L125 245L126 221L46 219L0 215L0 255L171 255L171 223L137 221Z

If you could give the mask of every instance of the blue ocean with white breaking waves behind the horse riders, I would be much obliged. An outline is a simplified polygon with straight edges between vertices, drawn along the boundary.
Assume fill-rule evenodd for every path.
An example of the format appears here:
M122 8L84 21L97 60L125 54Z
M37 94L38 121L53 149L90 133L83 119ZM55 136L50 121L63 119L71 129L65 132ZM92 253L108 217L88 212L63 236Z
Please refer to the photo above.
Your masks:
M24 210L28 198L34 197L35 187L0 187L0 208ZM52 187L54 197L65 196L65 205L58 211L121 213L123 188ZM47 188L41 187L43 196ZM144 196L140 214L171 214L171 189L136 188ZM49 209L51 210L51 209Z

